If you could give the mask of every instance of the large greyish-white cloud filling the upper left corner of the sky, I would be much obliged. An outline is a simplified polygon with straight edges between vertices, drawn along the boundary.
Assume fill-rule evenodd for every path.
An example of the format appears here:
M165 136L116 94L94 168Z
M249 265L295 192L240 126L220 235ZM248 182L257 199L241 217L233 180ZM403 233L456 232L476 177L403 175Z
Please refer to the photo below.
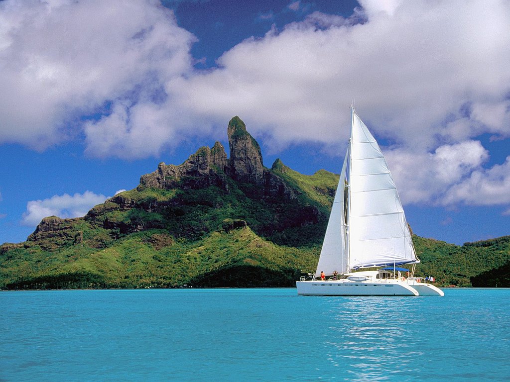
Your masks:
M111 103L160 104L166 81L190 70L195 40L150 0L0 2L0 143L42 150L77 134L82 115L109 114ZM124 122L132 141L146 127ZM96 140L108 133L95 132L87 136L90 150L104 155ZM158 150L152 142L144 152L125 138L116 145L134 156Z

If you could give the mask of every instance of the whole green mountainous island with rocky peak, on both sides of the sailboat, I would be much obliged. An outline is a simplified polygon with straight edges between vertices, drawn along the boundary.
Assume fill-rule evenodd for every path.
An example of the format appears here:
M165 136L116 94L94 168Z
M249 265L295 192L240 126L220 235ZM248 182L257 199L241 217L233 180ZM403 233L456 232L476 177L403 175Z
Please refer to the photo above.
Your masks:
M339 176L264 167L238 117L227 134L230 158L219 142L202 147L84 217L46 217L27 241L1 245L0 289L293 286L315 270ZM413 238L419 276L438 285L469 286L510 262L510 237Z

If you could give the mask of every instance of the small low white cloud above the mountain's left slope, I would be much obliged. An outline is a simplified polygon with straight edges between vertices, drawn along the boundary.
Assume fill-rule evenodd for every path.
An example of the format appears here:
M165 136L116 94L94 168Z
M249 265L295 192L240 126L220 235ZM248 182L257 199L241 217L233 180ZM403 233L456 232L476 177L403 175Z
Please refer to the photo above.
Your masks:
M95 205L104 203L108 197L86 191L83 194L73 196L55 195L44 200L32 200L27 203L27 211L23 213L21 224L24 226L36 226L46 216L59 216L63 219L68 217L85 216Z

